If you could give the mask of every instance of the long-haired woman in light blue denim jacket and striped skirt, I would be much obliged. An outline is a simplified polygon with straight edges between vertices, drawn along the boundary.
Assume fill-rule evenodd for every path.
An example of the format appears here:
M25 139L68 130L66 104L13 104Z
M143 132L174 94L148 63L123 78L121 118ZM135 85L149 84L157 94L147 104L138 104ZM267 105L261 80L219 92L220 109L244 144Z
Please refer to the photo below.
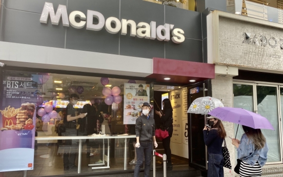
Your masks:
M240 159L240 176L261 176L261 167L267 161L268 145L260 129L242 126L244 134L241 141L232 139L237 147L237 157Z

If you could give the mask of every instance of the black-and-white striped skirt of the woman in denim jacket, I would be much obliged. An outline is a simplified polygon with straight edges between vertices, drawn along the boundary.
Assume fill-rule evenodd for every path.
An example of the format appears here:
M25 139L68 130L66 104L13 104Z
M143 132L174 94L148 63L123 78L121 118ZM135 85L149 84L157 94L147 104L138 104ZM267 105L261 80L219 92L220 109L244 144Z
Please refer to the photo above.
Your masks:
M243 162L243 161L241 162L241 165L240 165L240 176L241 177L261 176L261 173L262 173L262 169L260 165L258 164L258 162L256 162L253 167L246 162Z

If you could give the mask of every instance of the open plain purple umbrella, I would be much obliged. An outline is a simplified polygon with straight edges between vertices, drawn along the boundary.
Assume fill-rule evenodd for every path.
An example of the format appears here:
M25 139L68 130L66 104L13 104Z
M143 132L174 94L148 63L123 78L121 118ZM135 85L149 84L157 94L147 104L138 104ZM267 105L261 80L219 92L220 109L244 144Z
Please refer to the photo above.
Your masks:
M266 117L242 108L217 107L210 111L209 114L221 121L245 125L254 129L274 130L273 126Z

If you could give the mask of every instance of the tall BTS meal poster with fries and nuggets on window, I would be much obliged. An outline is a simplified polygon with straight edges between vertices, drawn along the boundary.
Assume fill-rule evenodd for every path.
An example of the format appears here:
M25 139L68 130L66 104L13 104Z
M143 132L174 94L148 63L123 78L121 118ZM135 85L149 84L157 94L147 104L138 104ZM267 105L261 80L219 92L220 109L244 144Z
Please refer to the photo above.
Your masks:
M36 104L43 102L42 78L37 74L7 76L7 72L4 73L0 172L33 169Z

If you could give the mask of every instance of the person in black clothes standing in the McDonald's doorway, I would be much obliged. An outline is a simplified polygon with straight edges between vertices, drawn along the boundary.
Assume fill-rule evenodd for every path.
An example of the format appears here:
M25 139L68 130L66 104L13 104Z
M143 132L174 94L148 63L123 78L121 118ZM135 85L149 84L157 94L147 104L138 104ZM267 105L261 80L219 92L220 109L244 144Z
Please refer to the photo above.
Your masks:
M155 113L160 116L161 122L163 122L163 127L169 133L169 136L162 140L162 144L163 144L166 156L167 156L166 167L172 167L170 139L173 133L173 109L172 109L171 102L169 99L164 99L162 104L163 104L164 114L162 114L160 111L155 111Z

